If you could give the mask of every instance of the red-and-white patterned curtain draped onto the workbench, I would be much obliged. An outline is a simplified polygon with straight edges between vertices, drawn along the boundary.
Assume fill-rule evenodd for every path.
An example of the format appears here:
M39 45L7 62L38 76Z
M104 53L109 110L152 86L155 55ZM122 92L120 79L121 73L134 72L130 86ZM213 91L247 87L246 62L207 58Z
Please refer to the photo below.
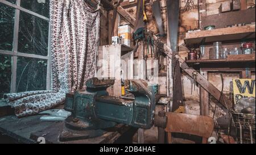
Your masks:
M83 0L51 0L51 90L6 94L18 118L63 104L96 72L100 11Z

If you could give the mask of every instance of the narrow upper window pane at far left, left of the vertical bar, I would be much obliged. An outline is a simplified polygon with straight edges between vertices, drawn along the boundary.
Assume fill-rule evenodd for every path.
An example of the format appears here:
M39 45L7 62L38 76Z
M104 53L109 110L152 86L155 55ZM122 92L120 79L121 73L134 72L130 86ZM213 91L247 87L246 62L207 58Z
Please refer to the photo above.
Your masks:
M13 51L15 9L0 3L0 49Z

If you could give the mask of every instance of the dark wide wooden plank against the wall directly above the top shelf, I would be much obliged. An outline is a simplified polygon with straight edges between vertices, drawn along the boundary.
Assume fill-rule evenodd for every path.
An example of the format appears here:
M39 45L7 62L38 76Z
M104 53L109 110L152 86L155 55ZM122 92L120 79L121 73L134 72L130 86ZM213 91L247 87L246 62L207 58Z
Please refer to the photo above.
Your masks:
M246 6L247 7L247 6ZM255 8L241 11L230 11L221 14L202 16L201 28L206 26L215 26L216 28L224 28L228 25L255 22Z

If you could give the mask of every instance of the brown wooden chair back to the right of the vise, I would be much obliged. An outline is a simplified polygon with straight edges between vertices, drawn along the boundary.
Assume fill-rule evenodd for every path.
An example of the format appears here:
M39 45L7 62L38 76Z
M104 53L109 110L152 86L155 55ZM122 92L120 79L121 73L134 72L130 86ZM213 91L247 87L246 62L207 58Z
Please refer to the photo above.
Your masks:
M175 112L167 112L167 141L172 143L172 132L187 133L191 135L203 137L202 143L206 144L207 139L213 132L213 118L202 115L181 114Z

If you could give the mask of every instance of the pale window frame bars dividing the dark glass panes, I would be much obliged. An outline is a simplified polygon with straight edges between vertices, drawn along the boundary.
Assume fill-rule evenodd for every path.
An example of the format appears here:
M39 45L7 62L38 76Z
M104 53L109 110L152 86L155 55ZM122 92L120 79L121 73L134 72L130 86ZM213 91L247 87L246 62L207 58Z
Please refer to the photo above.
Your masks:
M0 0L0 3L3 3L7 6L13 7L15 9L15 16L14 16L14 36L13 36L13 51L6 51L0 49L0 54L2 55L10 55L11 56L11 90L10 93L16 93L16 69L17 69L17 58L20 57L31 57L31 58L42 58L44 60L47 60L47 73L46 73L46 90L51 89L51 45L50 45L50 19L46 16L37 14L36 12L24 9L20 6L20 1L22 0L16 0L16 4ZM24 0L23 0L24 1ZM35 55L35 54L29 54L29 53L22 53L18 52L18 33L19 33L19 14L20 11L27 12L28 14L34 15L36 17L42 18L44 20L47 20L49 23L49 30L48 30L48 55L47 56L41 56L41 55Z

